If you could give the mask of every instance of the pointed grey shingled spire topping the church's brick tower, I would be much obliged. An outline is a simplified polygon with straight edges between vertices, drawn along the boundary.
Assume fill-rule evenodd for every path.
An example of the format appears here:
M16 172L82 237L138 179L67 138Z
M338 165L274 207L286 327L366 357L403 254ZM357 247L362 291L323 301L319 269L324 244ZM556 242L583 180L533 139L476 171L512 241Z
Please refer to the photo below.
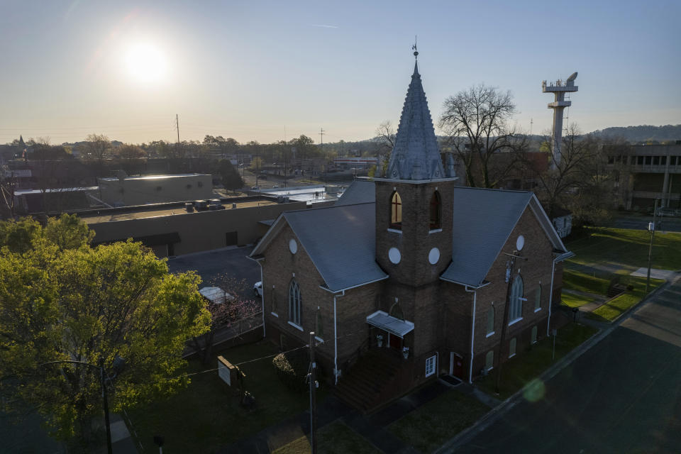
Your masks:
M414 50L414 57L418 57L416 45ZM414 62L414 74L406 92L386 177L412 180L445 178L418 62Z

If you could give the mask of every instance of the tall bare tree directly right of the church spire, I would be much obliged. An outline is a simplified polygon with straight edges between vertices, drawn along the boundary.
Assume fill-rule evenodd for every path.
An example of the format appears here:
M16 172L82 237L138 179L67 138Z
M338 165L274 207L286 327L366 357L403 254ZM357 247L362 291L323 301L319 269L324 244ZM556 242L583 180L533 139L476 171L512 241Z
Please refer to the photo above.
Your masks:
M516 160L512 155L497 163L500 165L495 165L494 160L501 153L526 148L526 136L509 125L515 113L511 92L502 93L485 84L445 99L438 126L463 163L469 186L495 187Z

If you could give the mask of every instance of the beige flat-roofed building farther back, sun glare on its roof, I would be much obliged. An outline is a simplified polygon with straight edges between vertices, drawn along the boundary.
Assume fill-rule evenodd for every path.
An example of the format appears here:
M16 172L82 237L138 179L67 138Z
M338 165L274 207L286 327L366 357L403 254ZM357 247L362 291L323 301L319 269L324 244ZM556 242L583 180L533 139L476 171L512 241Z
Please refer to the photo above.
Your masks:
M206 174L143 175L99 178L101 198L112 206L162 204L213 197L213 177Z

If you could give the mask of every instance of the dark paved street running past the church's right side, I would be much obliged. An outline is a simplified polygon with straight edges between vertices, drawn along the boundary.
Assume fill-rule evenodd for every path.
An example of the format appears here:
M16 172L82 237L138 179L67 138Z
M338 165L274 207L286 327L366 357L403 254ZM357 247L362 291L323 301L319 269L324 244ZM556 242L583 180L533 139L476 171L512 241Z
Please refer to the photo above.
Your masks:
M456 453L680 453L681 280Z

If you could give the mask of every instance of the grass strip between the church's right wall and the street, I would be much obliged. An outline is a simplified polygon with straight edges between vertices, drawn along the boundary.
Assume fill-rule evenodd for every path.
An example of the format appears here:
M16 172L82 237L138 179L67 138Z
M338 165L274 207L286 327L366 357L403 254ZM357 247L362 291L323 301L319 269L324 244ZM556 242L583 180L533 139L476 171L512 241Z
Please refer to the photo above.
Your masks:
M570 353L578 345L594 335L598 330L591 326L580 325L579 323L569 323L563 328L558 329L555 336L555 360L551 359L553 352L553 337L543 338L532 348L525 352L519 352L514 358L506 360L502 367L502 379L499 384L499 398L506 399L519 389L528 385L526 397L529 400L541 398L543 383L536 377L553 365L555 361ZM494 395L494 385L497 374L492 370L487 377L478 380L480 389L488 394Z

